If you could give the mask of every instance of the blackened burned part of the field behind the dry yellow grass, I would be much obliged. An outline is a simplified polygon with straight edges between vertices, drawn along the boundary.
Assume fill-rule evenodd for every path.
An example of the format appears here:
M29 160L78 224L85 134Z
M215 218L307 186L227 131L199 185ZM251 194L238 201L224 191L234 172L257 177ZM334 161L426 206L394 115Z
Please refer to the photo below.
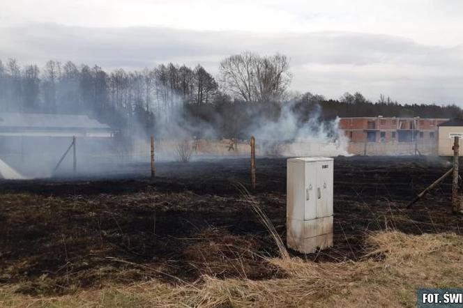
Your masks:
M407 209L416 193L450 167L426 157L336 157L334 247L301 256L358 260L365 236L460 233L450 183ZM269 279L284 270L266 261L278 248L249 201L247 158L132 164L111 178L5 181L0 194L0 284L17 292L63 294L76 288L161 279L176 284L202 275ZM286 160L257 160L259 202L283 240ZM381 258L381 256L373 256Z

